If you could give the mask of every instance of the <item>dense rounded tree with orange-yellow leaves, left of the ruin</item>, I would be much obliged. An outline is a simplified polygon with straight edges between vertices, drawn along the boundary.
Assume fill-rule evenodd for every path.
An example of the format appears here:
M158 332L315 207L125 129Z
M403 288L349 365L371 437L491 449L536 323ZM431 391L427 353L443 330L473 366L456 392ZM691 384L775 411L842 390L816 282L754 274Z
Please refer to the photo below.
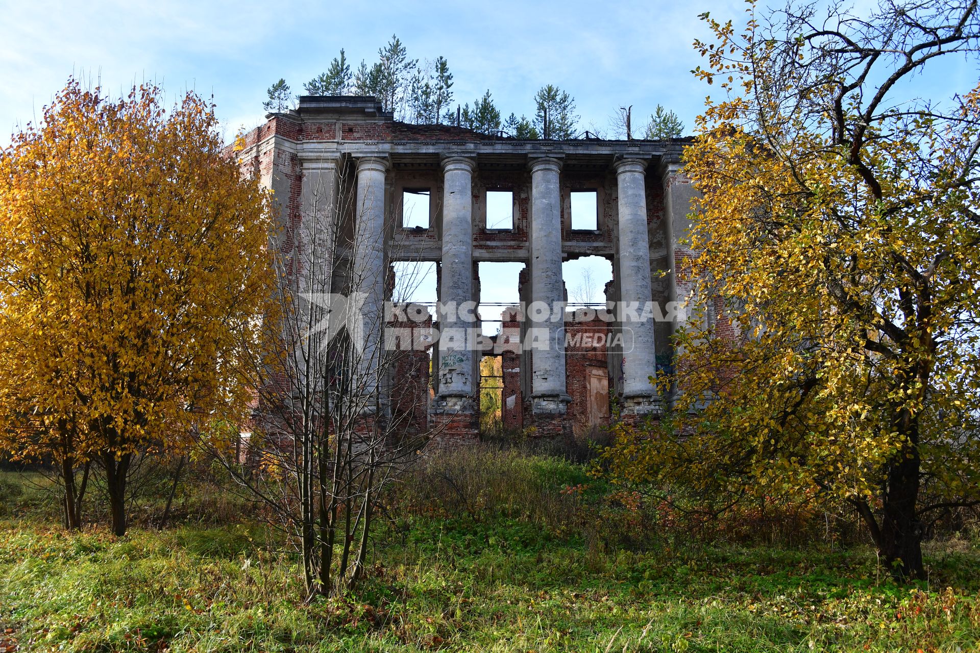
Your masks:
M268 209L193 93L167 112L155 86L110 101L70 79L0 151L0 449L58 463L69 526L79 466L122 536L134 454L245 414Z

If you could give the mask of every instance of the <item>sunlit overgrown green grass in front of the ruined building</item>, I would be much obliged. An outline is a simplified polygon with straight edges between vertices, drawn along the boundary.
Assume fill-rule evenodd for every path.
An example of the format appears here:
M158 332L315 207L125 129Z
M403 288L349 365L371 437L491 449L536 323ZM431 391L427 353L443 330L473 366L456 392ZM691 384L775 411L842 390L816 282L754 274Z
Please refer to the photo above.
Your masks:
M67 534L2 482L0 626L23 651L980 651L975 537L932 542L909 586L833 539L624 538L629 507L553 458L477 452L408 479L361 593L312 605L254 506L202 523L193 480L180 523L120 539Z

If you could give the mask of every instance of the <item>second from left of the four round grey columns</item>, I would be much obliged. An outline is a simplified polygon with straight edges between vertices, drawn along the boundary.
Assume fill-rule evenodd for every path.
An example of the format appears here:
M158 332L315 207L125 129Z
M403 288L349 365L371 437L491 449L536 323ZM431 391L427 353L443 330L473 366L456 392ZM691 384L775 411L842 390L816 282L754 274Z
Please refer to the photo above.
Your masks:
M465 157L442 162L442 265L439 311L439 396L473 396L473 346L467 319L473 311L473 194L475 163ZM471 406L470 406L471 407Z

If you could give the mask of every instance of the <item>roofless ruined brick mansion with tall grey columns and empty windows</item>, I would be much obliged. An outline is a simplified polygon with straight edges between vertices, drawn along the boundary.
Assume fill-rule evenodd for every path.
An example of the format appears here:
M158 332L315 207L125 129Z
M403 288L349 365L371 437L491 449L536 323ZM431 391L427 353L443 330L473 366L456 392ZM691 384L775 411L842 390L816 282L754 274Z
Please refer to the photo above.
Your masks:
M395 342L386 331L441 334L411 352L413 364L374 370L379 405L398 410L409 393L415 428L466 441L478 436L481 384L492 381L504 427L554 436L607 423L613 403L630 417L662 410L668 397L651 379L673 358L682 316L669 306L691 290L677 272L693 256L683 244L696 192L680 172L684 139L588 136L519 140L398 122L370 97L309 96L240 138L238 156L272 191L277 247L305 256L294 273L329 260L319 291L362 294L376 318L364 334L369 354ZM571 219L577 193L595 206L584 228ZM428 199L428 214L411 224L409 195ZM510 219L488 223L491 196L510 204ZM612 262L608 311L564 309L562 264L579 257ZM436 266L439 306L408 325L404 311L382 310L400 261ZM460 310L479 303L477 264L491 261L523 264L519 305ZM479 337L480 319L501 320L500 332ZM480 373L487 355L500 357L492 380Z

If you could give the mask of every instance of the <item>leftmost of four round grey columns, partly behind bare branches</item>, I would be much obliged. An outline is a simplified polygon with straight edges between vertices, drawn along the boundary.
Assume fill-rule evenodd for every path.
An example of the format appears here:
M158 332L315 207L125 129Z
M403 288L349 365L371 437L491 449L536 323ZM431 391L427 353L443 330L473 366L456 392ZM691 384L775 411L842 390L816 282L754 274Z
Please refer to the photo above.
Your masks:
M379 157L358 159L357 220L354 225L352 292L360 293L362 332L355 340L364 343L355 351L358 386L362 393L378 390L381 362L381 332L384 329L384 178L388 161ZM355 343L357 345L357 343Z

